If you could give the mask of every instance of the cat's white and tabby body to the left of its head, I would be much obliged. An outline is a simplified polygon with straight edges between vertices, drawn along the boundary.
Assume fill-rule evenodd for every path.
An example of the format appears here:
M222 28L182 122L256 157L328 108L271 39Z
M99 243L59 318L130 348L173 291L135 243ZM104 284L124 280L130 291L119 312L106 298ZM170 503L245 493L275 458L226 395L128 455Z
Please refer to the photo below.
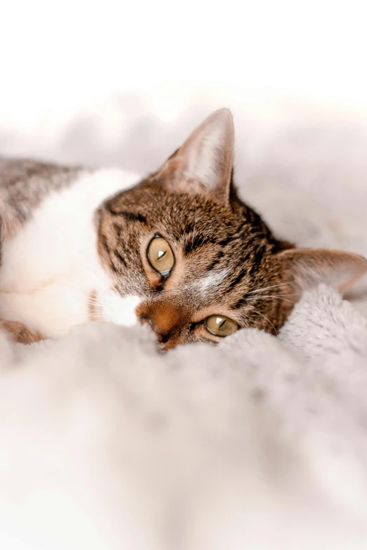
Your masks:
M0 318L46 336L86 321L86 296L105 284L96 209L137 181L119 169L0 159Z

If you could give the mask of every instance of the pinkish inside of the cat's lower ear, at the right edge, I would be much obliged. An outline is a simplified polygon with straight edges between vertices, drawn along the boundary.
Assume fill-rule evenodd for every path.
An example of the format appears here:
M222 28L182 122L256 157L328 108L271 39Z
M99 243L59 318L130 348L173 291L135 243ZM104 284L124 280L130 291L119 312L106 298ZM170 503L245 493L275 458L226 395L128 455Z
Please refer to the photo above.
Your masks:
M341 250L290 249L280 252L278 259L295 277L301 292L320 283L344 292L367 272L365 258Z

